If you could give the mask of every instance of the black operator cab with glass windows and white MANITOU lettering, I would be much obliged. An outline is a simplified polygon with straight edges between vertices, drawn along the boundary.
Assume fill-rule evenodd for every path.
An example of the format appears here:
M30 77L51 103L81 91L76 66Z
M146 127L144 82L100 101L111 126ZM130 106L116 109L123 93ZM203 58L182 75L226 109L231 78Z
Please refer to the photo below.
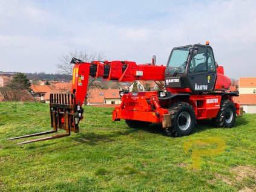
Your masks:
M214 54L209 45L174 48L165 71L166 88L190 88L193 92L214 90L217 77Z

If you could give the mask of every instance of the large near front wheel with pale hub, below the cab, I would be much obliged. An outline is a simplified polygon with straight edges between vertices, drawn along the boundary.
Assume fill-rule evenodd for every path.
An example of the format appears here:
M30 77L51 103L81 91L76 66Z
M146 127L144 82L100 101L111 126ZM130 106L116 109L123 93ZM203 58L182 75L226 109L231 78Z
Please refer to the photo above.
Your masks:
M178 102L169 107L171 114L171 124L165 128L165 133L169 136L189 135L195 126L195 112L193 107L185 102Z

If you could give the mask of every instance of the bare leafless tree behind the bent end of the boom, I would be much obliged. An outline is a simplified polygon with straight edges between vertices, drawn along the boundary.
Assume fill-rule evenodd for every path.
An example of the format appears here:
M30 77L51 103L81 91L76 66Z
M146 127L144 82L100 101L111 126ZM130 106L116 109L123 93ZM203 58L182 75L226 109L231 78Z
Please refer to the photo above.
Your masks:
M102 61L105 59L105 55L102 52L94 52L88 53L87 51L77 51L74 50L73 52L68 53L67 55L62 55L59 57L59 63L57 64L57 68L59 68L59 72L61 74L73 74L73 67L74 64L70 63L71 59L75 57L76 59L82 60L82 62L92 62L94 60ZM84 104L87 104L87 99L91 97L90 90L91 89L103 89L104 85L98 81L96 78L90 78L88 81L88 88L87 88L87 95L85 96Z

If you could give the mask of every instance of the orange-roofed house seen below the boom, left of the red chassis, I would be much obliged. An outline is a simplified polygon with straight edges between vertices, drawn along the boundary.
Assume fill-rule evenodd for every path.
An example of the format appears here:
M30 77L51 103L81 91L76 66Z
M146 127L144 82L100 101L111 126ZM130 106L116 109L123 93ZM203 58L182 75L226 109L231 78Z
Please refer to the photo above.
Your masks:
M119 89L91 89L88 92L88 105L120 103Z

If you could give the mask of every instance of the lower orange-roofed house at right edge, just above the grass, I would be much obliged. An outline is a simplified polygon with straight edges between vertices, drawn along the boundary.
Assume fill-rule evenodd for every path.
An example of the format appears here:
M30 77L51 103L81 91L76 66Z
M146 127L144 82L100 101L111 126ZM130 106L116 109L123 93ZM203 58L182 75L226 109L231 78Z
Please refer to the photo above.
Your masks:
M256 114L256 94L240 94L233 97L233 100L243 106L243 110L248 114Z

